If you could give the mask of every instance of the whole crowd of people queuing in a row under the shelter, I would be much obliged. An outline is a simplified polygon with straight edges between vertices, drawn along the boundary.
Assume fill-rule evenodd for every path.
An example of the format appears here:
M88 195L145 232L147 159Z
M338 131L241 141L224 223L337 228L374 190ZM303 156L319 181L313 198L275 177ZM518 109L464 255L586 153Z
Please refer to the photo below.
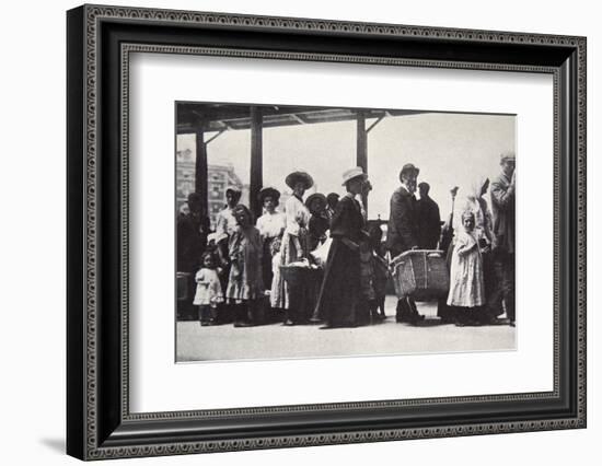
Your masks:
M442 224L429 185L408 163L391 197L386 240L369 222L363 202L372 189L361 167L346 171L346 194L314 193L305 172L290 173L292 195L279 209L280 191L264 187L254 219L236 187L215 231L193 193L177 220L177 270L200 325L235 327L280 319L283 325L354 327L386 317L384 299L391 259L410 249L442 249L450 290L438 303L443 322L459 326L514 324L514 154L500 156L501 173L475 179ZM419 199L416 199L416 190ZM484 198L490 190L491 209ZM458 188L452 190L455 198ZM507 319L499 317L506 313ZM424 316L412 296L398 296L395 318L418 324Z

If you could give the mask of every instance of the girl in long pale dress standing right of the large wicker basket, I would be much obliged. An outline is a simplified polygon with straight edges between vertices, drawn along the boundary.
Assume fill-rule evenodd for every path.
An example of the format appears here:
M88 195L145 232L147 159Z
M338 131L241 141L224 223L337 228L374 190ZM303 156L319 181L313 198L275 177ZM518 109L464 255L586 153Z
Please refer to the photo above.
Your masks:
M460 307L458 326L472 325L476 321L476 312L485 304L483 259L474 229L474 213L465 211L452 253L448 294L448 305Z

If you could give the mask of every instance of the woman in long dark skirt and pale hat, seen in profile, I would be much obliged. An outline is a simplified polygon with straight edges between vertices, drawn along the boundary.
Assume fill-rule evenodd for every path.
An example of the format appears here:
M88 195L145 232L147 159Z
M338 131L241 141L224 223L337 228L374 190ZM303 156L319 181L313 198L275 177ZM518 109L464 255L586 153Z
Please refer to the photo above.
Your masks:
M324 280L317 301L317 315L325 325L320 328L355 327L360 304L360 251L364 236L361 207L355 197L361 193L368 176L361 167L343 175L347 194L340 198L331 221L333 243L328 252Z

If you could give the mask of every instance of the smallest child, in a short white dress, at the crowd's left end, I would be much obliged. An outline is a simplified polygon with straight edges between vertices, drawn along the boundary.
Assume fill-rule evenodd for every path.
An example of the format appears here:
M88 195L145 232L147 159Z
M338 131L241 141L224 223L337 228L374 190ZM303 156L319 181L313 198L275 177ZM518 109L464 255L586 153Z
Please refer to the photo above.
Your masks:
M217 307L223 302L223 293L213 253L206 252L201 264L202 267L195 277L197 290L193 304L198 306L198 318L200 325L205 327L216 323Z

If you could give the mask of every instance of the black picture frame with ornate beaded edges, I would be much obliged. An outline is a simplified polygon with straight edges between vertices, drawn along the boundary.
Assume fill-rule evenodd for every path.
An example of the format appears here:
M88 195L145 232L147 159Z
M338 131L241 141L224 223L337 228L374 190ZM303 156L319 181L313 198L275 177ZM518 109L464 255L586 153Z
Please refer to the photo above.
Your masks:
M106 5L70 10L67 33L68 454L102 459L586 427L584 37ZM554 389L130 413L127 54L198 48L553 74Z

